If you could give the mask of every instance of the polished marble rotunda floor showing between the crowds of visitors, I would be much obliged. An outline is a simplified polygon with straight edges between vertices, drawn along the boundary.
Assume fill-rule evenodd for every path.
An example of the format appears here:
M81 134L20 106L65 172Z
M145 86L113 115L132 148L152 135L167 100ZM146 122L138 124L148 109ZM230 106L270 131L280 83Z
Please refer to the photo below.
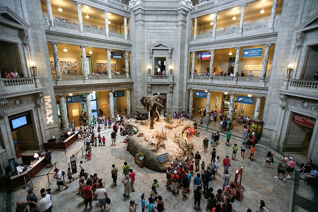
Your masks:
M203 153L202 140L204 136L207 135L208 138L211 138L212 131L206 131L204 128L200 128L200 138L194 137L191 138L194 143L194 151L199 151L202 156L202 161L208 162L211 160L211 155L209 153ZM147 168L139 168L134 163L134 157L125 151L126 144L120 143L123 140L123 137L120 135L117 138L117 145L111 147L110 140L110 129L103 129L101 135L105 135L107 138L105 147L92 147L92 160L84 161L85 171L89 174L97 173L100 178L106 181L106 191L108 196L112 201L112 205L109 206L109 211L128 211L129 201L135 200L140 203L140 196L142 193L145 193L145 197L149 196L151 185L153 179L157 179L160 188L159 194L162 195L165 202L166 211L194 211L193 195L187 195L186 198L183 198L181 193L179 195L174 195L170 190L165 188L166 175L165 173L156 173ZM240 133L233 132L233 137L230 140L230 144L237 143L239 144L242 140L239 138ZM232 146L225 146L224 142L226 137L221 133L221 138L219 145L217 146L217 155L220 156L221 161L225 155L229 155L231 159ZM67 161L69 162L69 157L72 154L76 154L79 151L77 156L78 160L81 160L81 147L83 146L83 141L75 143L67 152ZM211 145L209 150L212 149ZM292 195L293 195L293 184L294 179L288 180L284 183L282 178L279 180L274 178L276 175L276 166L281 156L279 153L275 154L274 160L275 164L271 164L270 168L264 167L265 156L267 151L273 151L269 147L258 145L256 147L254 161L250 161L247 157L243 159L238 152L237 160L232 161L232 168L230 169L231 180L234 180L235 171L237 168L245 165L245 172L242 176L242 185L245 187L244 196L241 201L235 201L233 203L234 212L245 212L248 208L252 211L257 210L257 205L260 200L264 200L266 203L266 208L269 211L281 211L287 212L291 211ZM249 150L246 150L246 155L249 155ZM146 158L147 159L147 158ZM53 152L52 153L52 162L57 161L57 167L67 171L68 163L66 163L66 158L64 152ZM134 169L136 173L135 181L135 192L130 193L130 197L124 198L122 193L124 186L122 184L123 174L119 171L118 176L118 186L114 187L111 179L111 165L115 164L119 170L121 170L124 161L128 161L128 164ZM78 167L79 169L79 167ZM42 174L46 174L49 169L45 169ZM52 171L51 171L52 173ZM76 176L77 174L74 174ZM84 211L83 200L79 195L75 195L78 190L78 181L74 181L70 184L69 189L61 190L59 192L54 192L57 189L56 181L52 178L52 175L49 175L52 185L52 204L53 211ZM223 171L221 171L216 177L216 180L210 182L210 187L216 192L218 188L222 188L223 184ZM66 180L67 181L67 180ZM48 184L47 176L41 176L34 179L33 184L37 189L35 190L36 195L40 198L39 191L41 188L46 188ZM63 188L63 187L62 187ZM192 182L191 187L192 188ZM14 202L17 201L26 201L27 192L25 189L20 189L14 192ZM146 198L147 199L147 198ZM201 211L206 211L206 203L204 197L201 199ZM93 201L93 209L90 211L99 211L99 206L97 201ZM140 204L137 211L141 211Z

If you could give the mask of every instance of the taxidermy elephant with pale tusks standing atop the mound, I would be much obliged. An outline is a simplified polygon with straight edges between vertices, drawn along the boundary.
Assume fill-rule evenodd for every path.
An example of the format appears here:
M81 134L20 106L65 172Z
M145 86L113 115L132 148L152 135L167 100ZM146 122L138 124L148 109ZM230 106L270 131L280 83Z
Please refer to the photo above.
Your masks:
M163 99L160 95L155 96L143 96L140 99L140 102L145 110L148 111L148 119L150 118L150 127L149 129L154 129L154 120L160 121L160 113L162 110Z

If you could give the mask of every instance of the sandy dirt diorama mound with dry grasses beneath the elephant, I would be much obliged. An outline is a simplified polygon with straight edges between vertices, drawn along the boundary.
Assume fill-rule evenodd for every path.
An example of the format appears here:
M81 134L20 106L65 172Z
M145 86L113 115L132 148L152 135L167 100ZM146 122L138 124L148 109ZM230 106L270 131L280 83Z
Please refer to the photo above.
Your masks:
M193 124L189 120L171 120L168 124L160 117L155 121L155 129L149 129L150 120L129 121L125 125L137 128L137 134L129 137L129 152L133 156L137 150L145 154L145 167L157 172L166 172L168 165L174 160L183 160L191 157L190 150L193 143L183 137L183 131ZM170 160L161 163L157 156L168 153Z

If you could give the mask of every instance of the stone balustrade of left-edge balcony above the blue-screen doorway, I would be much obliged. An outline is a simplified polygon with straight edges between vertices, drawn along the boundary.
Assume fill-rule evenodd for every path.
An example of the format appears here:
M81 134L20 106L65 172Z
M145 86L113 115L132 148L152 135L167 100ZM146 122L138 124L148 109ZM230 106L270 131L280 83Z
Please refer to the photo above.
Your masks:
M2 78L0 79L1 92L14 92L42 87L40 79L35 77Z

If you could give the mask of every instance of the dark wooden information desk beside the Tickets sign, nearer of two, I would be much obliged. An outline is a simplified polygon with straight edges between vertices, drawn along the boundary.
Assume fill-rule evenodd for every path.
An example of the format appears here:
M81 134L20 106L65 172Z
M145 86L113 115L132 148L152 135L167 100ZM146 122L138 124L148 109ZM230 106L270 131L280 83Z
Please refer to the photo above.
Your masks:
M24 156L24 157L32 158L33 156L30 155L30 156ZM30 163L31 162L28 161L28 164ZM42 169L45 168L45 166L46 166L46 160L45 160L45 157L42 157L40 158L40 160L37 161L36 164L33 164L30 168L28 168L24 172L18 173L15 176L11 176L10 179L12 181L13 189L18 190L20 188L25 187L24 176L25 176L26 183L29 184L30 176L32 176L32 179L35 179L33 177L36 176L38 173L40 173Z

